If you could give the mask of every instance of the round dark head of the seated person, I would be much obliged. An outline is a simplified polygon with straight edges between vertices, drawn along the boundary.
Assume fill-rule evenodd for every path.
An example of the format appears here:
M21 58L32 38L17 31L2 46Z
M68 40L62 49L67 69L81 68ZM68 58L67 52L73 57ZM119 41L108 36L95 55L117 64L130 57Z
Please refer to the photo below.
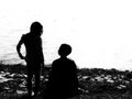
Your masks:
M67 55L69 55L72 53L72 47L68 44L62 44L59 50L58 50L58 55L61 55L62 57L66 57Z

